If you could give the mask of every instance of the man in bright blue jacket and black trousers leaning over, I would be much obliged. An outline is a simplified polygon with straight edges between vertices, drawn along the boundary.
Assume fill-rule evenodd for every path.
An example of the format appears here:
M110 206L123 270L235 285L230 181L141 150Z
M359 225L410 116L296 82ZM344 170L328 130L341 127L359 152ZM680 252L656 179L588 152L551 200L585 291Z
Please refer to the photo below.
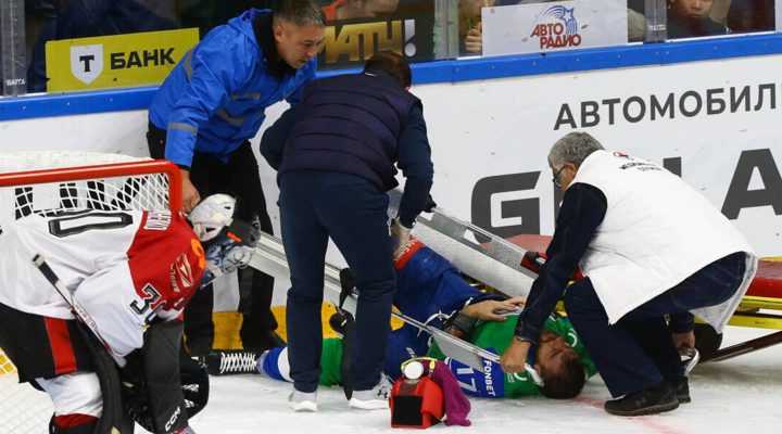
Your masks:
M230 191L247 205L239 217L256 215L261 229L272 233L249 139L257 133L266 107L282 100L297 103L315 77L324 23L313 0L283 0L274 12L251 9L210 31L172 71L149 108L147 139L152 157L181 169L186 210L201 196ZM252 270L242 270L239 279L244 348L281 344L269 310L274 279ZM191 354L212 347L212 297L211 288L201 291L185 311Z

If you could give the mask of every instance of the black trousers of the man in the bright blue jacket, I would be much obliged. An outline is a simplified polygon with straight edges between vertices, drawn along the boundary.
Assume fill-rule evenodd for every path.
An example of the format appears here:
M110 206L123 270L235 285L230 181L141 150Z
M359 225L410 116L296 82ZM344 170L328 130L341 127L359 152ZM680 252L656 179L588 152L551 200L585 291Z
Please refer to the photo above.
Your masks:
M147 143L153 158L165 157L166 131L151 123L147 132ZM250 141L244 141L224 163L214 155L195 151L190 166L190 181L205 197L214 193L231 193L244 206L237 209L237 217L250 221L256 215L261 230L273 234L272 218L266 210L266 197L261 187L257 161ZM252 268L239 270L241 294L240 311L242 327L239 337L245 349L265 349L272 346L269 335L277 329L277 320L272 314L274 278ZM241 291L250 286L249 294ZM190 353L200 355L212 348L214 323L212 309L214 291L212 285L198 291L185 308L185 335Z

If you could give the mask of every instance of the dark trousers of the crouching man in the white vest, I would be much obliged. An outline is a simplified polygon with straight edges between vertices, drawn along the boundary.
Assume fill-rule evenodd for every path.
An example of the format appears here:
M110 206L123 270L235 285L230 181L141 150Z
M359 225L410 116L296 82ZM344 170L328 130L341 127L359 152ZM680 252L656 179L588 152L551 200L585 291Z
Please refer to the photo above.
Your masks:
M733 253L703 267L614 324L592 281L581 279L565 295L565 310L597 366L611 396L618 397L684 376L666 314L716 306L732 297L744 280L746 255Z

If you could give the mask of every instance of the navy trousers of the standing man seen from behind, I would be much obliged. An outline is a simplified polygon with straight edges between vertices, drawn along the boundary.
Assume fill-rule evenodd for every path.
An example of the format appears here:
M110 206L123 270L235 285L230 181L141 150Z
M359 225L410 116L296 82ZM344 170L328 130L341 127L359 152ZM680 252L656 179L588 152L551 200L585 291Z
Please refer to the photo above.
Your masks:
M293 386L306 393L318 386L324 261L330 238L355 275L353 388L368 391L380 380L396 290L388 197L353 175L300 170L282 175L279 202L291 272L286 317Z

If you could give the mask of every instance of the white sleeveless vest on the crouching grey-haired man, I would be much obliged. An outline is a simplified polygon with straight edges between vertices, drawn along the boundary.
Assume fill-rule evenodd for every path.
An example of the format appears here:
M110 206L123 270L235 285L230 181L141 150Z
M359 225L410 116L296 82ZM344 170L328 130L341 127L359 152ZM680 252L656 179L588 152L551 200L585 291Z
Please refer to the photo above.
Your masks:
M720 332L757 268L757 257L735 227L681 178L619 152L592 153L579 167L577 182L597 188L607 200L605 219L581 258L581 269L610 323L708 264L746 253L744 282L736 294L693 310Z

